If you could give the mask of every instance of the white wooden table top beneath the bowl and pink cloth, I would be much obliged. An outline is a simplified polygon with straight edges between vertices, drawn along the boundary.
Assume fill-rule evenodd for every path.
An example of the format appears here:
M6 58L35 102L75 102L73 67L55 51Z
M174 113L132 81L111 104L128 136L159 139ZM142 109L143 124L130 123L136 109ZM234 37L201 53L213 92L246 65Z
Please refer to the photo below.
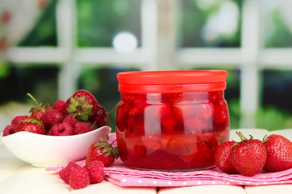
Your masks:
M264 129L240 129L244 134L252 132L256 138L267 133ZM292 130L279 130L292 139ZM238 140L235 131L231 138ZM292 184L265 186L206 185L179 188L119 187L103 181L81 190L72 190L56 172L47 172L22 162L0 143L0 194L292 194Z

